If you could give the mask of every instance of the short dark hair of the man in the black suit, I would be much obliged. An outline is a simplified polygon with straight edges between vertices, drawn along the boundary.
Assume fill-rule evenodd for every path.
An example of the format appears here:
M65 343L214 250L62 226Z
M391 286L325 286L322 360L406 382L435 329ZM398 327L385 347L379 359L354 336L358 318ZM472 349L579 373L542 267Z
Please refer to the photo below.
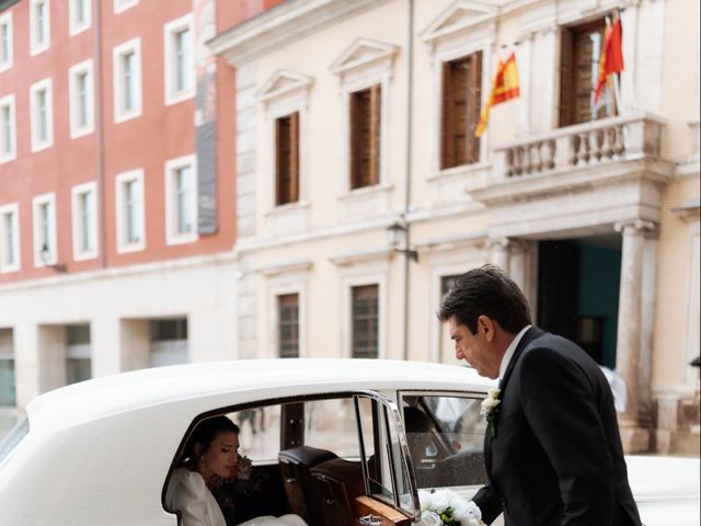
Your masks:
M440 321L448 321L452 316L472 334L476 334L480 316L495 320L509 334L516 334L531 323L524 293L494 265L473 268L456 279L438 310Z

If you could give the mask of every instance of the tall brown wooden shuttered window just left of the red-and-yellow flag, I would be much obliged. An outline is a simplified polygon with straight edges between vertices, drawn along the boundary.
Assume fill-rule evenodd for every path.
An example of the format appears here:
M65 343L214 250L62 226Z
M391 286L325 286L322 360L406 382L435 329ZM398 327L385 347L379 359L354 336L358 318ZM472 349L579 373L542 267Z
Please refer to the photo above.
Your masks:
M482 52L443 64L441 169L480 160L481 98Z

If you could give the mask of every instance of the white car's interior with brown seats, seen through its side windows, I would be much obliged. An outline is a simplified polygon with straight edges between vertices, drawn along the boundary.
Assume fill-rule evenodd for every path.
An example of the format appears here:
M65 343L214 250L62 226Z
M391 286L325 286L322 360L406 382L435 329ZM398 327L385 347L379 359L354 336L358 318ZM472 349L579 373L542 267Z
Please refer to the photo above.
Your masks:
M476 398L411 392L399 401L392 411L379 396L347 393L212 411L193 421L171 472L196 424L226 414L252 460L233 495L215 492L220 506L234 501L237 521L294 513L310 526L352 526L372 514L409 525L417 489L483 483L484 427Z

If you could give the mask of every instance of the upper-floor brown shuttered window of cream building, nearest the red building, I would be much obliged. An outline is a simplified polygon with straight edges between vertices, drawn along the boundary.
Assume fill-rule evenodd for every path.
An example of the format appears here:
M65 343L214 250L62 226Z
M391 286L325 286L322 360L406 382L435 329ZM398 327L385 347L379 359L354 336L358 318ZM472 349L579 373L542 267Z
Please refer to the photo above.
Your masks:
M275 121L275 204L299 201L299 113Z

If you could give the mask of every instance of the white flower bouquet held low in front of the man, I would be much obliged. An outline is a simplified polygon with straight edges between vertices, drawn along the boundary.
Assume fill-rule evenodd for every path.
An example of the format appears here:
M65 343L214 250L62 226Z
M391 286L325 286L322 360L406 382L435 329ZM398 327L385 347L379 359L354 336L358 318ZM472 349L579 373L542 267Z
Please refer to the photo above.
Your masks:
M418 490L421 526L484 526L478 505L451 490Z

